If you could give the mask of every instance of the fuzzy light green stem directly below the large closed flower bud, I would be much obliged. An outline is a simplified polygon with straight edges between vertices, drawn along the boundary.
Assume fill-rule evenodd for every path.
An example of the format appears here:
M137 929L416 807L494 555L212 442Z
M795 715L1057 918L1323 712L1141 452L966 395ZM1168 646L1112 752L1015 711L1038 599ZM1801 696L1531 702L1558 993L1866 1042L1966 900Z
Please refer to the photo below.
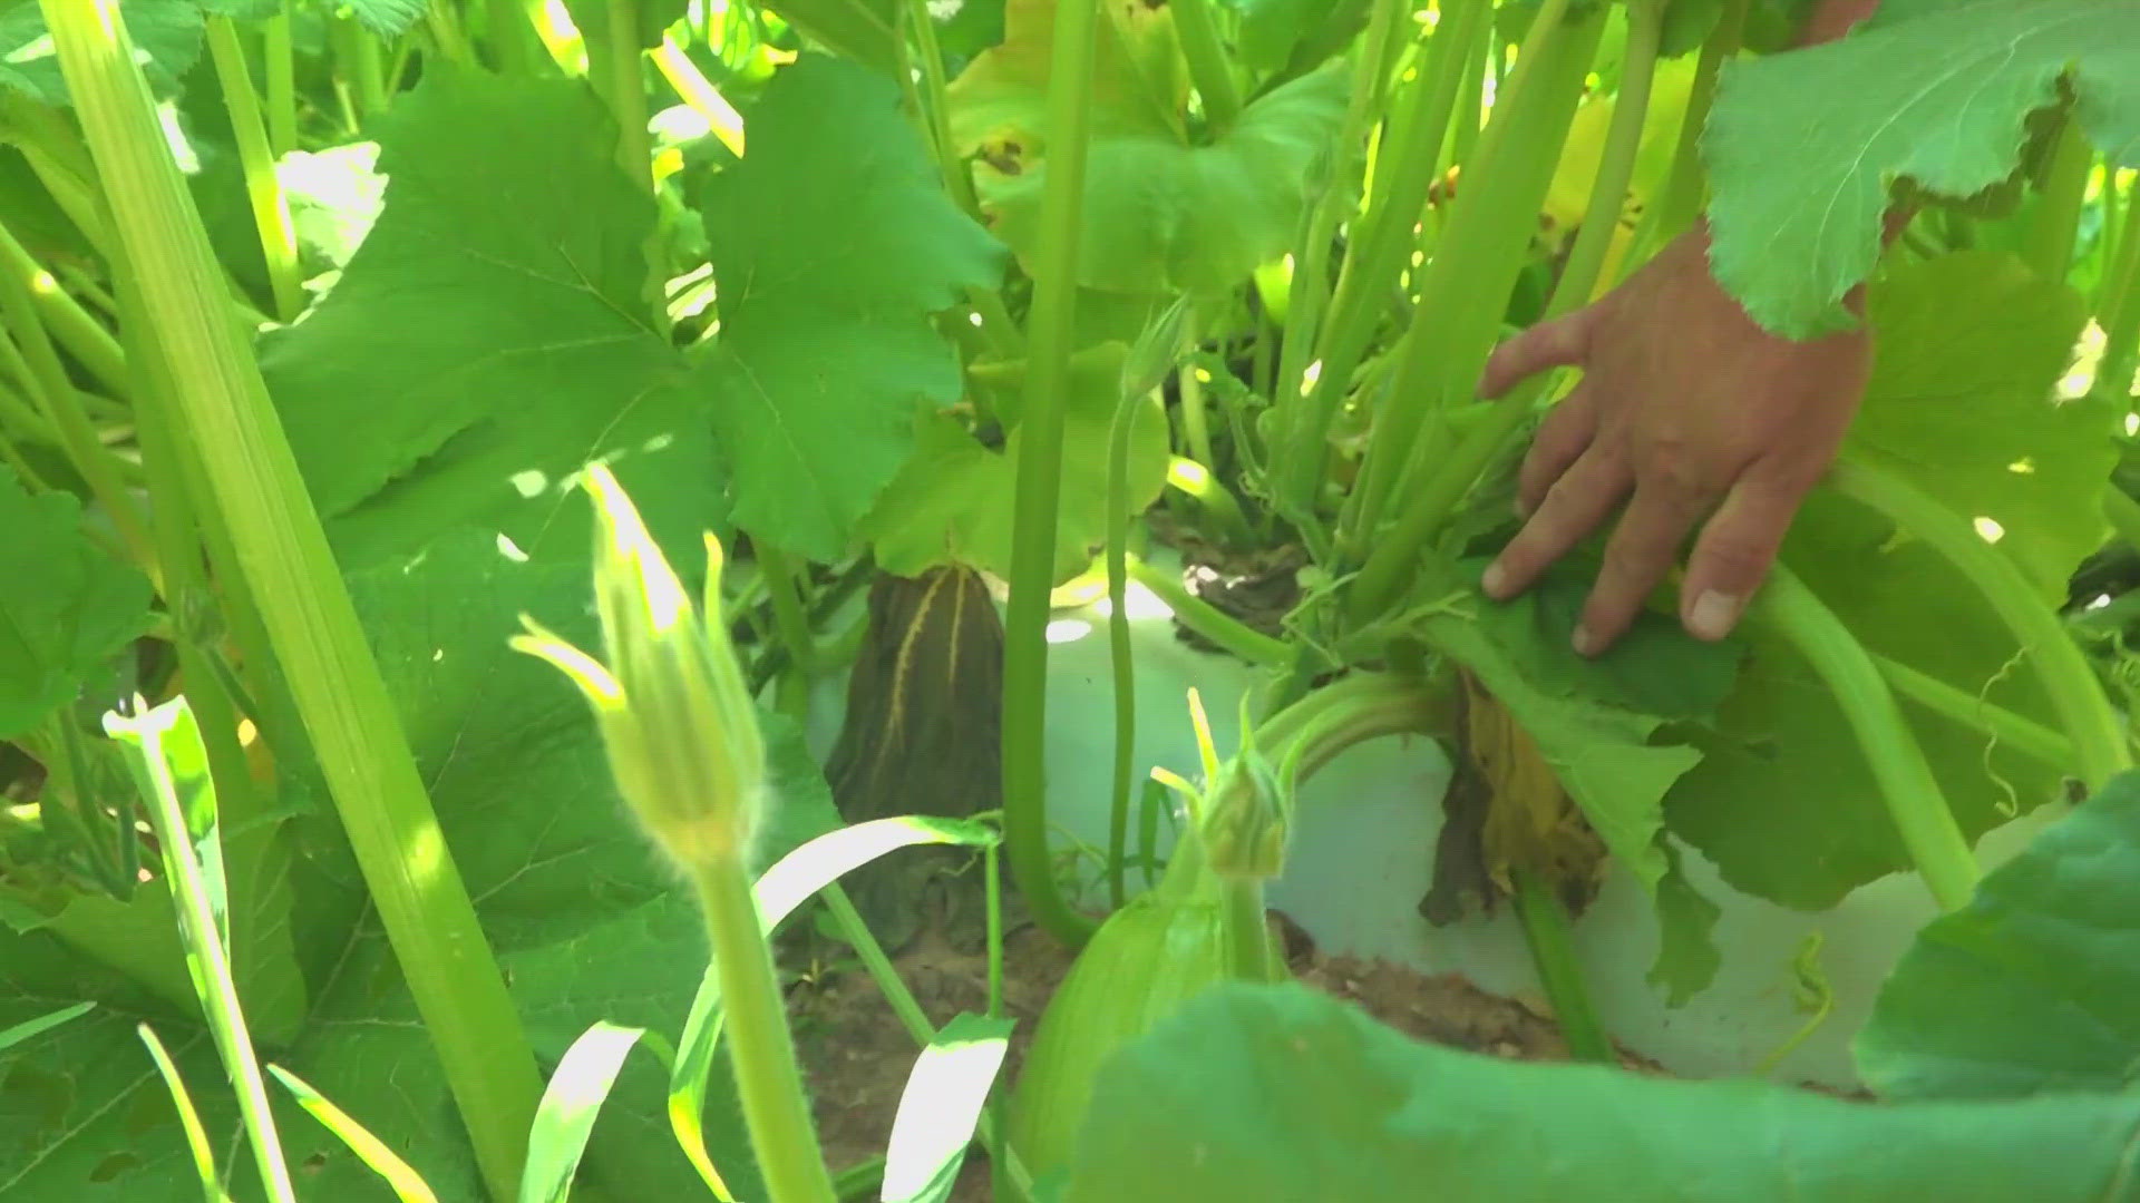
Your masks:
M751 875L740 858L717 856L696 869L696 886L732 1034L728 1057L766 1197L770 1203L832 1203L832 1175L811 1124L773 950L760 935Z

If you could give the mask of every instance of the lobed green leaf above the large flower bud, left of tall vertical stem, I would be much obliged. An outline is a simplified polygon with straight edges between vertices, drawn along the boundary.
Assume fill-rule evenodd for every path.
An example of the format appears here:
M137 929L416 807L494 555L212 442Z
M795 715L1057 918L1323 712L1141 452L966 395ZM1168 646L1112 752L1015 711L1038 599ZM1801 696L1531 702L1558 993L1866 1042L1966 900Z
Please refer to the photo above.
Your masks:
M775 75L751 154L706 193L721 336L698 379L721 396L736 524L839 559L916 409L961 394L927 317L995 285L1002 250L944 195L899 88L815 54Z

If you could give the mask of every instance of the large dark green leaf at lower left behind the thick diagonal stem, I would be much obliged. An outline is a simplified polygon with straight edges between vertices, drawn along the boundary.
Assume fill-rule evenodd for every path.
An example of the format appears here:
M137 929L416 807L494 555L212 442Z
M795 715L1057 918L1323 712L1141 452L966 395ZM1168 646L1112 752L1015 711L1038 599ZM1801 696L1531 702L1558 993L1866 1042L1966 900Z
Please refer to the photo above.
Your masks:
M689 893L616 801L586 702L554 668L505 644L522 612L595 642L584 559L569 550L514 559L492 537L464 531L415 563L351 578L445 846L546 1064L595 1021L674 1036L706 961ZM773 751L783 796L802 796L811 783L824 792L800 738L775 741ZM293 824L304 858L287 912L315 1002L302 1030L265 1053L387 1141L441 1199L475 1199L445 1079L364 905L340 826L323 794L302 781L291 788L317 798ZM0 1120L30 1139L0 1141L0 1192L83 1203L197 1199L169 1102L131 1025L156 1021L203 1096L212 1143L235 1147L235 1115L205 1034L62 948L49 933L0 933L0 1025L49 998L105 1002L6 1070ZM715 1081L725 1083L725 1070ZM738 1192L758 1197L725 1085L713 1092L710 1111L713 1156ZM383 1199L338 1139L295 1107L282 1115L310 1197ZM668 1132L657 1066L627 1066L595 1128L588 1173L648 1199L698 1194L698 1175ZM238 1194L255 1192L240 1186Z

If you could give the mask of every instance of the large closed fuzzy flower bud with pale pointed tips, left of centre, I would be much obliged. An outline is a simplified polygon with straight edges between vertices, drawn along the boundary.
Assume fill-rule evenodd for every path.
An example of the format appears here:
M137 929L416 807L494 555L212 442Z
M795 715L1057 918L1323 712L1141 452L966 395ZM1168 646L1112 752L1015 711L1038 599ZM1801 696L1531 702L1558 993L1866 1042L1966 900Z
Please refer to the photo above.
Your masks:
M749 858L766 790L764 736L721 621L721 546L706 535L706 606L693 608L606 467L595 501L595 608L608 664L522 614L511 646L563 670L595 706L616 788L681 867Z

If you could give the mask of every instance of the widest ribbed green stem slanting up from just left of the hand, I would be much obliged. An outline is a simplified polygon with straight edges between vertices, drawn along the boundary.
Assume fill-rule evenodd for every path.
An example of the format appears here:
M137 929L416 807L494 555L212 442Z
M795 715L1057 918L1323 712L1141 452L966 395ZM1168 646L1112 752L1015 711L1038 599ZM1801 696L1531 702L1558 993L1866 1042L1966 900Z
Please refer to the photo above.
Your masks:
M1421 424L1474 394L1479 370L1500 334L1507 298L1515 289L1539 205L1605 28L1603 9L1562 19L1564 9L1566 4L1549 2L1539 13L1511 73L1509 92L1494 105L1494 118L1479 139L1479 163L1466 173L1477 182L1457 193L1449 227L1421 280L1412 328L1376 413L1365 479L1359 486L1367 492L1359 505L1352 550L1372 550L1352 582L1355 623L1372 619L1395 599L1410 580L1419 548L1464 499L1537 396L1537 387L1517 387L1498 400L1494 420L1472 428L1419 494L1406 499L1395 531L1385 535L1378 529ZM1601 167L1601 176L1605 173Z

